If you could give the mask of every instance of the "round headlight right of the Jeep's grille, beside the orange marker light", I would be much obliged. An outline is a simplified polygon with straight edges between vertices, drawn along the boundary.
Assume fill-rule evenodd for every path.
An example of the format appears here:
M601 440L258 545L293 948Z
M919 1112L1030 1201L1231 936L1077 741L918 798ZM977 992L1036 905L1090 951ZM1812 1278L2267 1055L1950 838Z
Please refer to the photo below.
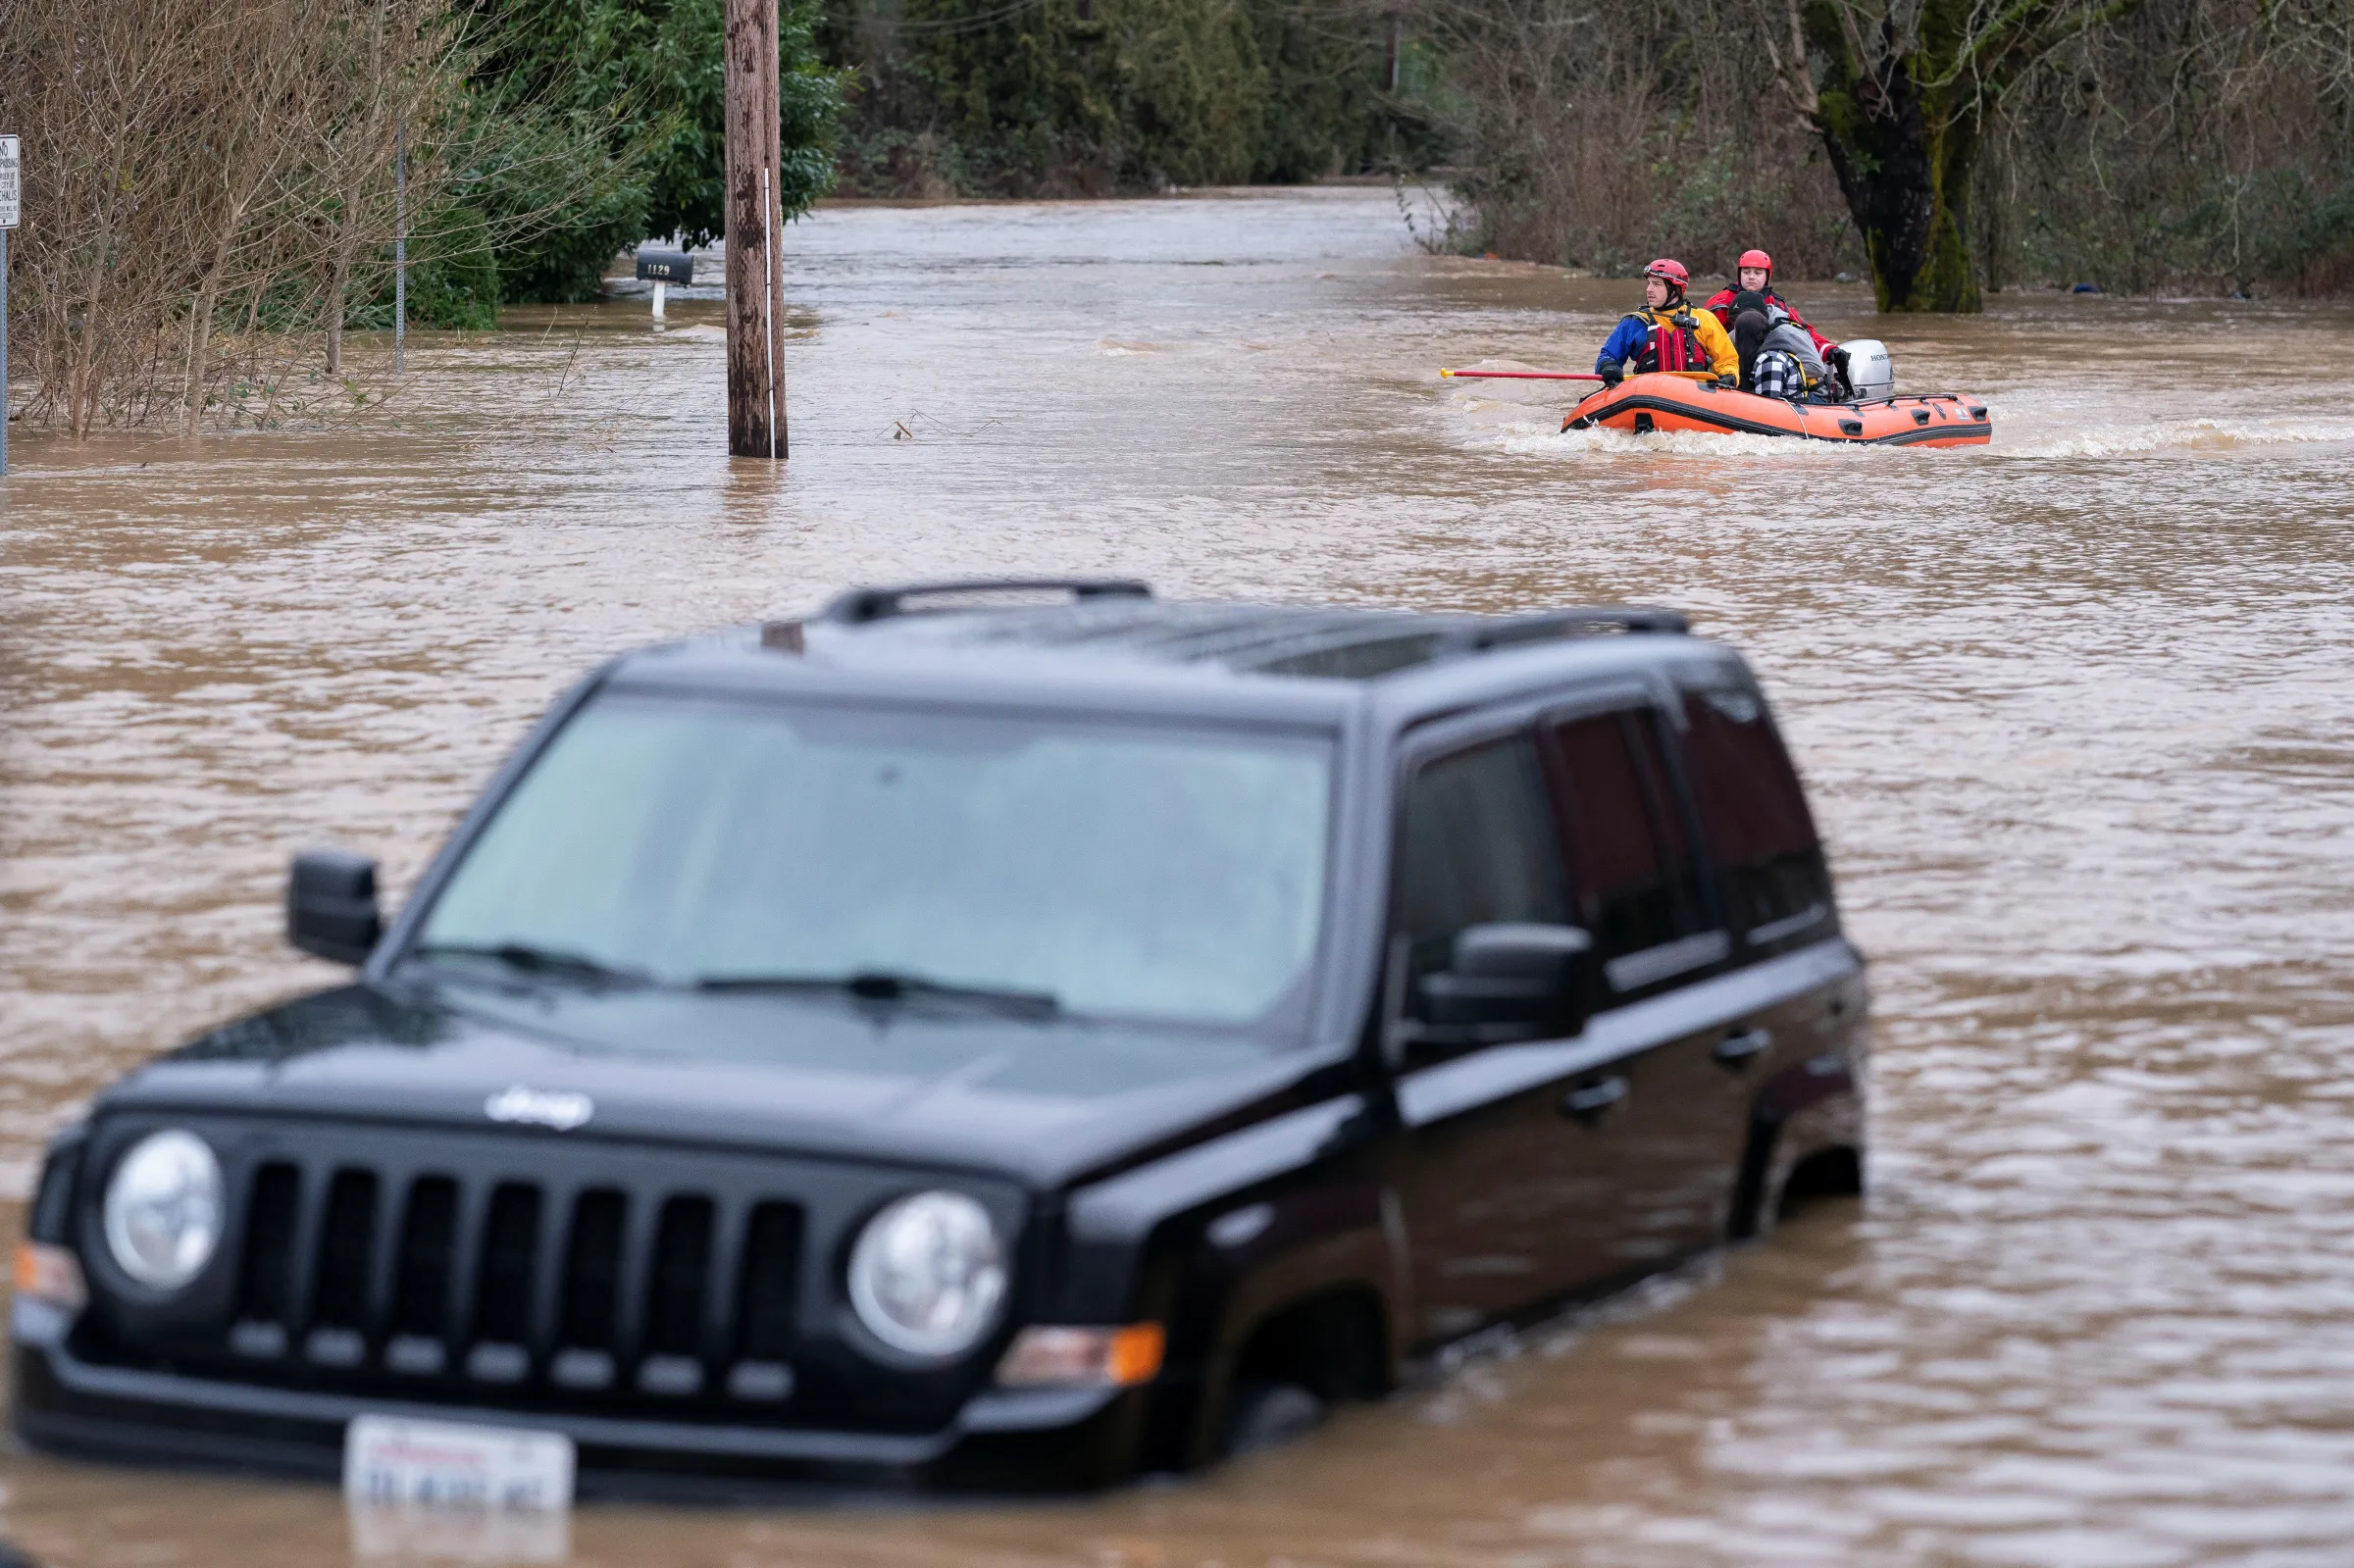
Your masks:
M918 1191L866 1222L850 1253L850 1307L876 1340L916 1356L972 1349L1005 1304L1005 1250L989 1210Z

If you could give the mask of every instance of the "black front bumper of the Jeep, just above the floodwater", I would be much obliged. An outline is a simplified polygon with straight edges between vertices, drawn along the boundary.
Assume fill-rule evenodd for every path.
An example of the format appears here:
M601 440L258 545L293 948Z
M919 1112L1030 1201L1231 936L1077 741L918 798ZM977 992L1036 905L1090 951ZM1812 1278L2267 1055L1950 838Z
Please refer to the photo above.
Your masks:
M19 1297L16 1431L38 1448L202 1469L332 1479L355 1415L560 1431L579 1450L581 1495L850 1486L1097 1486L1121 1474L1146 1389L989 1389L942 1431L871 1434L713 1422L516 1413L257 1387L97 1366L68 1349L73 1318Z

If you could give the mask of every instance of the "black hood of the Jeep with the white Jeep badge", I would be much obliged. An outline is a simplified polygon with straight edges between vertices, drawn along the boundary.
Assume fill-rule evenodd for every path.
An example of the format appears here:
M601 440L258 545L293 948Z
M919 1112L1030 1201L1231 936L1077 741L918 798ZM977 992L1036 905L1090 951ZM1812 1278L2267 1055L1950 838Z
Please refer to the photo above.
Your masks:
M1052 1189L1288 1109L1328 1062L1219 1034L831 996L353 984L214 1029L94 1111L504 1121L525 1137L956 1165Z

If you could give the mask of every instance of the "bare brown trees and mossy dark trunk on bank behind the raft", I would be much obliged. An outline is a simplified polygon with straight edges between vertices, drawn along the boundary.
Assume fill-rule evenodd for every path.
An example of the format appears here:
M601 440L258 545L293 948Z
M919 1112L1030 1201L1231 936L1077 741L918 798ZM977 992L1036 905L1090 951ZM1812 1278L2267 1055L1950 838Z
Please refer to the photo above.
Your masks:
M2022 280L2354 275L2349 0L1419 0L1474 240L1624 271L1857 266L1886 311Z

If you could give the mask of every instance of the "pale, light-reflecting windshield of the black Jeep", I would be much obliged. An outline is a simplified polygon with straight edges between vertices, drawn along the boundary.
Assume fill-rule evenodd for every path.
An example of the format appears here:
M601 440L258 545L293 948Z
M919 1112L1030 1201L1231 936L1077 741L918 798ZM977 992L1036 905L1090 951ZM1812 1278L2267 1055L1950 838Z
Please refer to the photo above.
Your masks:
M1330 772L1318 737L607 697L410 954L1250 1026L1306 979Z

